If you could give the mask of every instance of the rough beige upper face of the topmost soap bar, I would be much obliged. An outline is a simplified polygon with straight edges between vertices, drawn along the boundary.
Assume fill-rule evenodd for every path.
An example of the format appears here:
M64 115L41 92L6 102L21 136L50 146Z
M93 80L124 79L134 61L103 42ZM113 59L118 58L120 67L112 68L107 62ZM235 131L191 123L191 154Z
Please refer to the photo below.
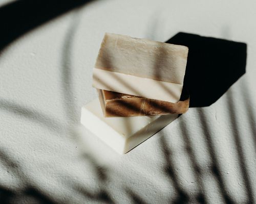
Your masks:
M188 48L106 33L95 68L183 84Z

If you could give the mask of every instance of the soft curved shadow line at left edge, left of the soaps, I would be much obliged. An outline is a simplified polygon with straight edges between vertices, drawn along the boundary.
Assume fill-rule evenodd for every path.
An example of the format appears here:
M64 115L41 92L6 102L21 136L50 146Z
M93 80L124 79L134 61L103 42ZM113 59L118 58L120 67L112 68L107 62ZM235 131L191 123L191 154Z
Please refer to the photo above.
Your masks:
M58 122L57 119L31 108L20 106L9 100L0 98L0 109L28 118L40 125L48 127L53 132L63 133L67 129L67 127Z

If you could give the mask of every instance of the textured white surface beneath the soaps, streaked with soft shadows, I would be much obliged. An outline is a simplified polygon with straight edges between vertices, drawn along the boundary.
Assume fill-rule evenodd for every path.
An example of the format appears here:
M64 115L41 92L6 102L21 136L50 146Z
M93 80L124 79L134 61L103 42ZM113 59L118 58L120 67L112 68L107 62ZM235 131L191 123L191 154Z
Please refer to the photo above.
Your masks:
M95 1L14 41L0 55L0 189L13 193L12 203L255 203L255 8ZM180 31L246 42L247 73L215 104L189 109L119 156L78 125L80 108L97 96L101 39L110 32L166 41Z

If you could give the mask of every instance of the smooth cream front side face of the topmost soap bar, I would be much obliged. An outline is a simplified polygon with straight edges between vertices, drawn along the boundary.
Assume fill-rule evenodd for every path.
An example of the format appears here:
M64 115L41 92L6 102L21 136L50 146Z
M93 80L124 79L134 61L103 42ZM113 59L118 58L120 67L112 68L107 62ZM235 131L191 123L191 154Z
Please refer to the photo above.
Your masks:
M96 68L93 69L93 87L171 103L179 101L182 91L182 85L180 84L161 82Z

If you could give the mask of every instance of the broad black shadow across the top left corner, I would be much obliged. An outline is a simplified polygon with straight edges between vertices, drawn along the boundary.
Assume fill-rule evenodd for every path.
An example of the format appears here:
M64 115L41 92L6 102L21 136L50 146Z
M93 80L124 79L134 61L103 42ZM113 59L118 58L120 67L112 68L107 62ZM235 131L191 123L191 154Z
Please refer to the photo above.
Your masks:
M39 25L90 0L20 0L0 8L0 53L8 44Z

